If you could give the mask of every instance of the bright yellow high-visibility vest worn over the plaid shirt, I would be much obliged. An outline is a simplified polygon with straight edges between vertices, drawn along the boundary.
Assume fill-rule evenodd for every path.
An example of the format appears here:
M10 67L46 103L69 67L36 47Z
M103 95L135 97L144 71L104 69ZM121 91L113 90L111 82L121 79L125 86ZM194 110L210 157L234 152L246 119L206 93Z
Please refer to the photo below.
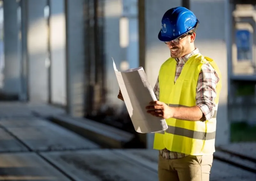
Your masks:
M169 106L196 105L196 86L199 72L204 63L210 63L220 80L217 83L216 106L212 119L206 121L188 121L166 119L168 128L163 133L155 133L154 149L167 148L170 151L188 155L206 155L215 151L216 115L221 89L221 73L217 64L202 54L195 54L185 63L179 78L174 84L176 61L169 58L159 71L159 101Z

